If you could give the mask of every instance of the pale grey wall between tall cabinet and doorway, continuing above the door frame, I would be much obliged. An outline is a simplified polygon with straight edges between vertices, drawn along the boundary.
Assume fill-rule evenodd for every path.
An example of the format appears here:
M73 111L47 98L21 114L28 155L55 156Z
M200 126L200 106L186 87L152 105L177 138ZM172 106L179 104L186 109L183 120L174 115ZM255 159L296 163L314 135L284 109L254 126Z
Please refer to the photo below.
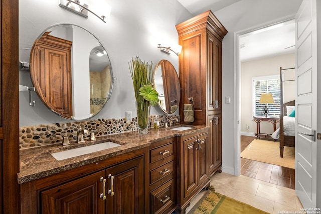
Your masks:
M223 39L222 50L222 98L231 97L231 103L223 102L222 150L223 171L235 174L235 132L237 126L235 115L236 73L234 58L234 36L246 30L254 30L287 18L293 18L301 0L241 0L229 7L214 12L229 33ZM234 102L233 102L234 101ZM238 126L239 128L239 126Z

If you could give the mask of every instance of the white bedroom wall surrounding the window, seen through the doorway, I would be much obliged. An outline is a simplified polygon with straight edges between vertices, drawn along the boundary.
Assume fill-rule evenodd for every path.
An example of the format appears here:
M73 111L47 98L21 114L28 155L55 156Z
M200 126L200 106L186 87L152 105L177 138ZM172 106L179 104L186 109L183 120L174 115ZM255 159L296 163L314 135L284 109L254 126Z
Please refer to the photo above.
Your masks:
M248 133L254 136L256 132L256 123L253 121L252 114L252 78L260 76L277 75L280 76L280 67L294 68L295 55L286 54L275 57L269 57L259 60L247 61L241 63L240 72L240 128L241 134ZM290 70L289 70L290 71ZM291 70L293 78L295 77L294 70ZM295 100L295 82L286 82L283 90L284 102ZM245 127L249 126L249 129ZM278 124L277 124L278 127ZM269 122L260 124L262 133L273 133L273 125Z

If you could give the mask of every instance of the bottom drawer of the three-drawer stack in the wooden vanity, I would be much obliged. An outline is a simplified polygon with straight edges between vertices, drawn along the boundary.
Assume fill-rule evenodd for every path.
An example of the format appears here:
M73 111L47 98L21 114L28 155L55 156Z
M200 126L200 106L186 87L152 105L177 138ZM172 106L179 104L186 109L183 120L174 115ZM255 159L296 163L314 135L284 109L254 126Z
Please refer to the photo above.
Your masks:
M163 213L166 209L176 206L174 179L150 192L150 213Z

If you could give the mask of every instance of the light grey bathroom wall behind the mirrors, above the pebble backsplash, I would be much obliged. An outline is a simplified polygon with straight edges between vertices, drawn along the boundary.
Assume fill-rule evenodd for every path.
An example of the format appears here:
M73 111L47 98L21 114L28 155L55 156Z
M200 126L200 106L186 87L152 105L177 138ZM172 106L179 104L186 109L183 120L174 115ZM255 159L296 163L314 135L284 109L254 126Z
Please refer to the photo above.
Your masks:
M19 60L29 62L30 51L35 39L49 26L58 23L79 25L90 31L108 52L114 77L113 92L107 105L93 118L123 118L125 111L136 116L134 93L128 63L139 56L152 62L153 66L162 59L169 60L178 71L178 57L159 51L158 43L178 44L175 25L192 15L177 1L173 0L101 0L112 9L107 23L88 13L85 19L58 6L58 0L19 1ZM97 6L97 5L96 5ZM99 7L99 6L98 6ZM94 11L94 7L89 5ZM20 71L20 84L32 86L30 73ZM29 106L28 92L20 92L20 126L68 122L56 115L41 102L36 94L35 107ZM163 114L158 107L151 114Z

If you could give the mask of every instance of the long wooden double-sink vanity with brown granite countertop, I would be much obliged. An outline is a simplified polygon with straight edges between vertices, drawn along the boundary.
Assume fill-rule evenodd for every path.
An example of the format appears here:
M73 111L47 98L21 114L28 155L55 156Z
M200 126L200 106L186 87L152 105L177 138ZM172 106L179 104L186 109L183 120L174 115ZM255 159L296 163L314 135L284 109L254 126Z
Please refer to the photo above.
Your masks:
M184 213L209 186L203 125L20 151L24 213Z

